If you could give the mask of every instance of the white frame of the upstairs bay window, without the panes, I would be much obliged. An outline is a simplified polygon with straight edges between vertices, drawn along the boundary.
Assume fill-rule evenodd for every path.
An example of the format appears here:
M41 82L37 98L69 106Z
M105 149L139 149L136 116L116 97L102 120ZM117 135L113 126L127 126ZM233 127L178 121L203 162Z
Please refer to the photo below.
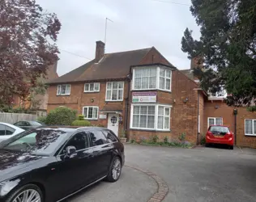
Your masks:
M135 70L136 69L151 69L151 68L156 68L156 87L155 88L140 88L140 89L135 89ZM164 69L164 89L160 88L160 69ZM166 77L166 71L170 71L170 78ZM160 67L160 66L143 66L143 67L134 67L133 69L133 78L132 78L132 90L164 90L168 92L172 92L172 76L173 76L173 71L172 69ZM149 78L150 76L148 76ZM142 77L141 77L142 78ZM170 89L166 89L166 79L170 79ZM142 82L142 81L141 81Z

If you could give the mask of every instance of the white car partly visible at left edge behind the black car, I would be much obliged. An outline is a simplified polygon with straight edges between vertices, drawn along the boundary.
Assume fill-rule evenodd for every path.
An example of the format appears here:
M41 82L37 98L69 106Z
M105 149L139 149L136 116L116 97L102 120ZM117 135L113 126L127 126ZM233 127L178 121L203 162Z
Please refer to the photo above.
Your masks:
M0 142L23 132L22 128L19 128L13 124L7 124L0 122Z

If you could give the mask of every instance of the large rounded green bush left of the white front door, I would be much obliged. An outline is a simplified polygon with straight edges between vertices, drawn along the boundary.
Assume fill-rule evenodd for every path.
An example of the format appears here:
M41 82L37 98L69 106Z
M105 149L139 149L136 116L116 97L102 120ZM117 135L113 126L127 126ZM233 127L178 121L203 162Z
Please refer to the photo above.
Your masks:
M71 125L75 120L75 110L68 107L57 107L49 112L45 124L51 125Z

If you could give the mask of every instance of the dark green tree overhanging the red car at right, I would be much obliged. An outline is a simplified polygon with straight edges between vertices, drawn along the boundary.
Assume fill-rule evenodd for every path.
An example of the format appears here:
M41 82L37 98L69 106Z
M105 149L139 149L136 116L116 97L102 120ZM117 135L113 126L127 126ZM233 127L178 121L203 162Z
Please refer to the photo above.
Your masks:
M192 0L190 11L201 27L194 40L186 28L182 51L203 58L204 69L195 69L204 90L224 87L229 106L256 102L256 0Z

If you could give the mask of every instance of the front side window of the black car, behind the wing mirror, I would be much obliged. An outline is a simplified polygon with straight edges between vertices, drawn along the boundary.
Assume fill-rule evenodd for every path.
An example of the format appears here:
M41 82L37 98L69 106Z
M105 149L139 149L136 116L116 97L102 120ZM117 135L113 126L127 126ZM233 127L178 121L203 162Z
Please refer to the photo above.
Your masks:
M89 147L89 141L87 138L87 134L84 132L76 133L70 141L65 145L64 150L67 146L75 146L76 150L86 149Z

